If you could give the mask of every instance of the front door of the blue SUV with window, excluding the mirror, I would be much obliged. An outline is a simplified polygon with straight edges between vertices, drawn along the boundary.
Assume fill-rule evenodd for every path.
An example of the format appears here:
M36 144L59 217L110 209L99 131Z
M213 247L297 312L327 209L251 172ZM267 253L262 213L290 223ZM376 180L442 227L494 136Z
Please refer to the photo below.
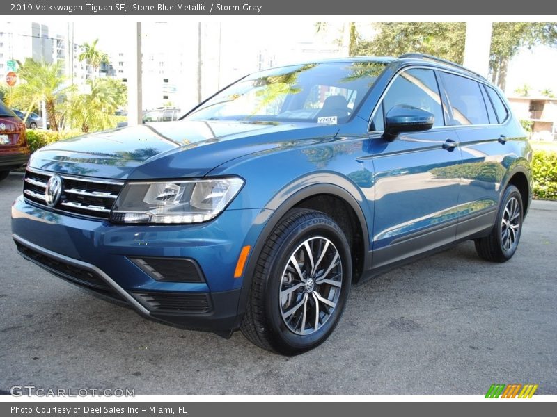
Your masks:
M434 127L385 140L384 115L396 105L429 111ZM372 118L374 268L455 240L460 178L443 172L457 168L462 158L445 107L434 70L411 68L391 81Z

